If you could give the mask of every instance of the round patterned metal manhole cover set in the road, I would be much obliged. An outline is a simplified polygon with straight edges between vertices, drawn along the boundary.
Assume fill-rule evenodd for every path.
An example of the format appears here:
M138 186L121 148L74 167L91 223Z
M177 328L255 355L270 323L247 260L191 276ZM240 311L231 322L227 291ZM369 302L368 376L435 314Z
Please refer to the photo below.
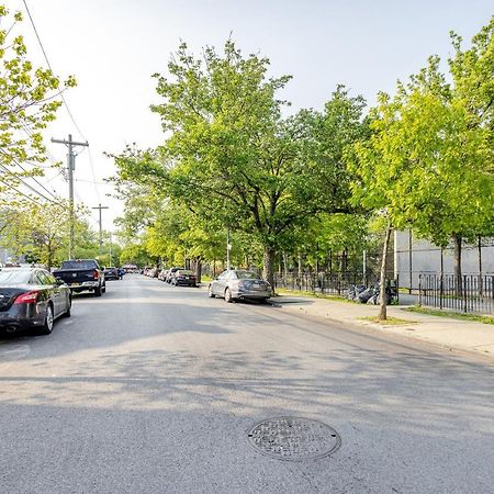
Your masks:
M333 427L300 417L259 422L248 431L247 439L256 451L288 461L316 460L341 446L341 438Z

